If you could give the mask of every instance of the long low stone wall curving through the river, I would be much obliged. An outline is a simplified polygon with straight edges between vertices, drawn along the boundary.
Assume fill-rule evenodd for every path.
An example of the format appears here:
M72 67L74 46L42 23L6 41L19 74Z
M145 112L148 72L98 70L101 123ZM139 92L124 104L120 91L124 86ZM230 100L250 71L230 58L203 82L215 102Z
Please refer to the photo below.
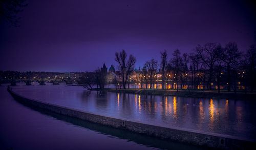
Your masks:
M156 126L129 120L122 120L25 98L12 91L11 88L8 88L8 91L19 102L26 103L31 106L36 106L38 108L42 108L54 113L119 128L121 130L141 133L167 140L174 140L183 143L222 149L252 149L256 146L256 142L249 139L241 139L228 135L204 133L176 127Z

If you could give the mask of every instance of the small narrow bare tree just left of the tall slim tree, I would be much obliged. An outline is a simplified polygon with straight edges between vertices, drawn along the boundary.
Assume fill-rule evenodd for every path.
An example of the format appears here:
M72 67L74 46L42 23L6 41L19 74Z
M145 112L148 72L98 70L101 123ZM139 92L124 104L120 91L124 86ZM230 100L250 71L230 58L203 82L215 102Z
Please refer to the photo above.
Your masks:
M157 60L151 59L150 61L147 61L145 63L145 66L148 71L148 78L150 80L150 88L152 89L152 84L154 84L155 81L155 75L156 75L156 70L157 70ZM154 87L154 85L153 85Z

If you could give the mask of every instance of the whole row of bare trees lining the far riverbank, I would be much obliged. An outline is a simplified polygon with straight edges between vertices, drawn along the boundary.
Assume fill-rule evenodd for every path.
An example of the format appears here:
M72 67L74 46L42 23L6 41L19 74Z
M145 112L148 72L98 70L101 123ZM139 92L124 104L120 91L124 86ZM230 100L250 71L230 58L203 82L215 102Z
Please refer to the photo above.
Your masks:
M115 61L118 71L114 73L114 83L125 89L130 83L142 84L145 88L154 89L155 83L161 83L162 89L221 89L237 92L238 87L245 92L255 90L256 46L252 45L246 52L238 49L236 42L228 42L225 46L209 42L198 45L190 53L181 54L179 49L171 54L160 52L161 61L150 59L144 63L139 78L131 79L136 58L127 57L124 50L116 52ZM106 83L104 67L87 75L87 87L92 83L103 89ZM128 85L128 86L126 86Z

